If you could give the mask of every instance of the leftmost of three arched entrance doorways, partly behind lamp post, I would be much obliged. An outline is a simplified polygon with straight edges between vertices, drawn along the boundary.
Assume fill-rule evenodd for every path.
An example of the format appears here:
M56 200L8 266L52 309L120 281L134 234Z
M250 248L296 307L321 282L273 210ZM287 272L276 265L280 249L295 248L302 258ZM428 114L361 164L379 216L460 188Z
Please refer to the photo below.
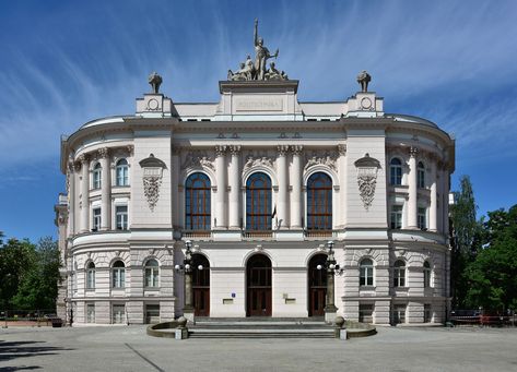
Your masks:
M203 268L199 269L199 265ZM210 315L210 263L202 254L192 254L192 299L196 316Z

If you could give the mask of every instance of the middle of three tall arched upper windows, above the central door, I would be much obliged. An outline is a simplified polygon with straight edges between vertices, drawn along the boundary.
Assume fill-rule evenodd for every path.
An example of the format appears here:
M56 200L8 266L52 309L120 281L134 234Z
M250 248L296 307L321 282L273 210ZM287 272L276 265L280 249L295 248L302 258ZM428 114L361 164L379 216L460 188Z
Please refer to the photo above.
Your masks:
M271 179L258 172L246 181L246 229L271 230Z

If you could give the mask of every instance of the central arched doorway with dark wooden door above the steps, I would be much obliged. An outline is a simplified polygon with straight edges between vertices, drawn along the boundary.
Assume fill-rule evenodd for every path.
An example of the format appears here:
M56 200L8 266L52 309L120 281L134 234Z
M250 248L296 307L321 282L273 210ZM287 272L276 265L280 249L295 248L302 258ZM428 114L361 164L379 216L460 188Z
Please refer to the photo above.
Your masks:
M271 316L271 260L256 254L246 265L247 316Z

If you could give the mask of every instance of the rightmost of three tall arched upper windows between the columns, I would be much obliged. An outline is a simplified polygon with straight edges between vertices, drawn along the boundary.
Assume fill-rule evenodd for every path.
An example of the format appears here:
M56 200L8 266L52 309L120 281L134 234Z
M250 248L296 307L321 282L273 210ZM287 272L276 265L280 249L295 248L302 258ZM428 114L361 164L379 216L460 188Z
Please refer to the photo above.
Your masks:
M307 229L332 229L332 180L324 172L307 180Z

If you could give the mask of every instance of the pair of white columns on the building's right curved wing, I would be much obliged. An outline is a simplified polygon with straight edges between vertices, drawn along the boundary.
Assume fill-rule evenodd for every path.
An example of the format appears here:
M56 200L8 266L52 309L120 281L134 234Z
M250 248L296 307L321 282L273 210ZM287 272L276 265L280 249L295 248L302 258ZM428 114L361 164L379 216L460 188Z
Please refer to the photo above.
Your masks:
M418 229L418 208L419 208L419 189L418 189L418 161L419 149L410 148L409 158L409 201L408 201L408 228ZM437 231L437 191L436 191L436 166L431 164L431 203L428 212L428 229Z

